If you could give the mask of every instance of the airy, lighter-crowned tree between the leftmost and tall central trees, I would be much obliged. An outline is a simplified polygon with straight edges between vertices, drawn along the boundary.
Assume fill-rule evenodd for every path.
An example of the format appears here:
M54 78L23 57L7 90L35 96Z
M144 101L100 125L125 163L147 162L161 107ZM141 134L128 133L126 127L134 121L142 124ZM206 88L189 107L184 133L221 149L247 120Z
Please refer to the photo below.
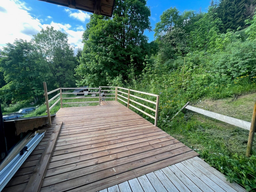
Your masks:
M50 73L55 78L54 86L74 86L76 64L67 34L47 27L34 36L34 42L41 55L41 62L49 66Z

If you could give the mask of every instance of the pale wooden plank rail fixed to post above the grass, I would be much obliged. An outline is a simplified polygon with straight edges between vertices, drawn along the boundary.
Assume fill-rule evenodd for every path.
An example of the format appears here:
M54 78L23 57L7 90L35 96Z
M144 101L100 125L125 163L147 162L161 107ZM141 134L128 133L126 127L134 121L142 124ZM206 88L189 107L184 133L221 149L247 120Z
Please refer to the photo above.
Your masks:
M246 130L250 130L250 127L251 127L251 123L247 122L247 121L243 121L243 120L236 119L236 118L233 118L233 117L221 115L221 114L214 113L214 112L211 112L211 111L206 111L204 109L192 107L190 105L188 105L185 108L189 109L191 111L195 111L197 113L200 113L202 115L205 115L205 116L208 116L208 117L212 117L214 119L218 119L218 120L223 121L225 123L228 123L228 124L231 124L231 125L235 125L237 127L240 127L240 128L246 129Z

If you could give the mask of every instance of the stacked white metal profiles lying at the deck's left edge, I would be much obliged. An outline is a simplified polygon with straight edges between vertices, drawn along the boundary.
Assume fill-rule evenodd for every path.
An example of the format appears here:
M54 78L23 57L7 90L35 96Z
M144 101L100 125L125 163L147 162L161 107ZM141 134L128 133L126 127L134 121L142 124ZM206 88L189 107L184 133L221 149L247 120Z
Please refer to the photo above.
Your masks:
M44 137L43 133L36 133L36 135L27 143L26 150L18 153L1 171L0 171L0 191L3 190L4 186L9 182L15 172L18 171L20 166L28 158L30 153L38 145L38 143Z

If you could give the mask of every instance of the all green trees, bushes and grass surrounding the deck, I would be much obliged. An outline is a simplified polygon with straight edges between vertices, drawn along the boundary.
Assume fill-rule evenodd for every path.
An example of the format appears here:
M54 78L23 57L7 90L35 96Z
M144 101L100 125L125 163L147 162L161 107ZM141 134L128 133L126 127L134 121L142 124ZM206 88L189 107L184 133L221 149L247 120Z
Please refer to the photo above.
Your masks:
M247 158L248 131L189 111L171 118L190 101L199 108L251 120L256 100L256 1L212 1L207 12L168 8L150 43L144 34L151 30L146 3L116 0L112 18L92 15L83 35L84 48L76 56L65 34L53 28L42 30L32 42L7 44L0 61L3 110L10 112L31 101L41 105L43 81L51 85L49 90L76 84L155 93L160 95L161 129L196 150L228 180L255 191L256 146ZM48 49L45 37L51 33L66 43L59 46L59 38L53 38L56 46ZM56 54L47 56L52 50ZM11 66L17 69L15 75ZM29 116L44 114L43 105Z

